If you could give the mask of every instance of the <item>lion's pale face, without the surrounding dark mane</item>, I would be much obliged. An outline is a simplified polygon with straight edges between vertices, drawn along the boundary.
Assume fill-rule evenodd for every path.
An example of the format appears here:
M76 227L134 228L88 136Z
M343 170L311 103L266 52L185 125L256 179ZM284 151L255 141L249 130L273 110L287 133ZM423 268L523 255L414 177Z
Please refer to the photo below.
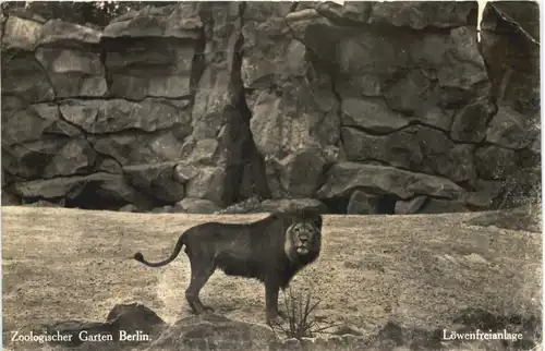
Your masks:
M298 221L286 231L286 254L291 259L317 255L320 249L322 226L314 221ZM299 259L298 259L299 261Z

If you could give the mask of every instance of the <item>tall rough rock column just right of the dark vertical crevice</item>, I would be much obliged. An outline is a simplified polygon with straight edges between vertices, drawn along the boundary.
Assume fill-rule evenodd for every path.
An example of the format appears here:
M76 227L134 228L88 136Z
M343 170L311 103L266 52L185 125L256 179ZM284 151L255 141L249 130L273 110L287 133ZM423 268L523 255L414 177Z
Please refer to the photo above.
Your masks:
M312 197L329 162L318 150L340 141L331 76L294 35L290 11L288 3L249 3L242 28L250 129L274 198Z

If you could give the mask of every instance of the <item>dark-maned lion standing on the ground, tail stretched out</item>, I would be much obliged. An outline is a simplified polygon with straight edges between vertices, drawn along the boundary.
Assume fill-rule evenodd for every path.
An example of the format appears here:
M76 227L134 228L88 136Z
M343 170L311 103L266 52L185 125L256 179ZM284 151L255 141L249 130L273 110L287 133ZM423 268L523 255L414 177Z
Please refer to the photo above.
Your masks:
M216 268L228 276L254 278L265 285L266 322L280 323L279 290L286 290L293 276L316 261L322 249L322 216L298 210L274 213L250 223L207 222L187 229L165 261L147 262L142 253L134 259L148 267L172 262L185 246L191 264L191 282L185 299L195 314L214 311L198 294Z

